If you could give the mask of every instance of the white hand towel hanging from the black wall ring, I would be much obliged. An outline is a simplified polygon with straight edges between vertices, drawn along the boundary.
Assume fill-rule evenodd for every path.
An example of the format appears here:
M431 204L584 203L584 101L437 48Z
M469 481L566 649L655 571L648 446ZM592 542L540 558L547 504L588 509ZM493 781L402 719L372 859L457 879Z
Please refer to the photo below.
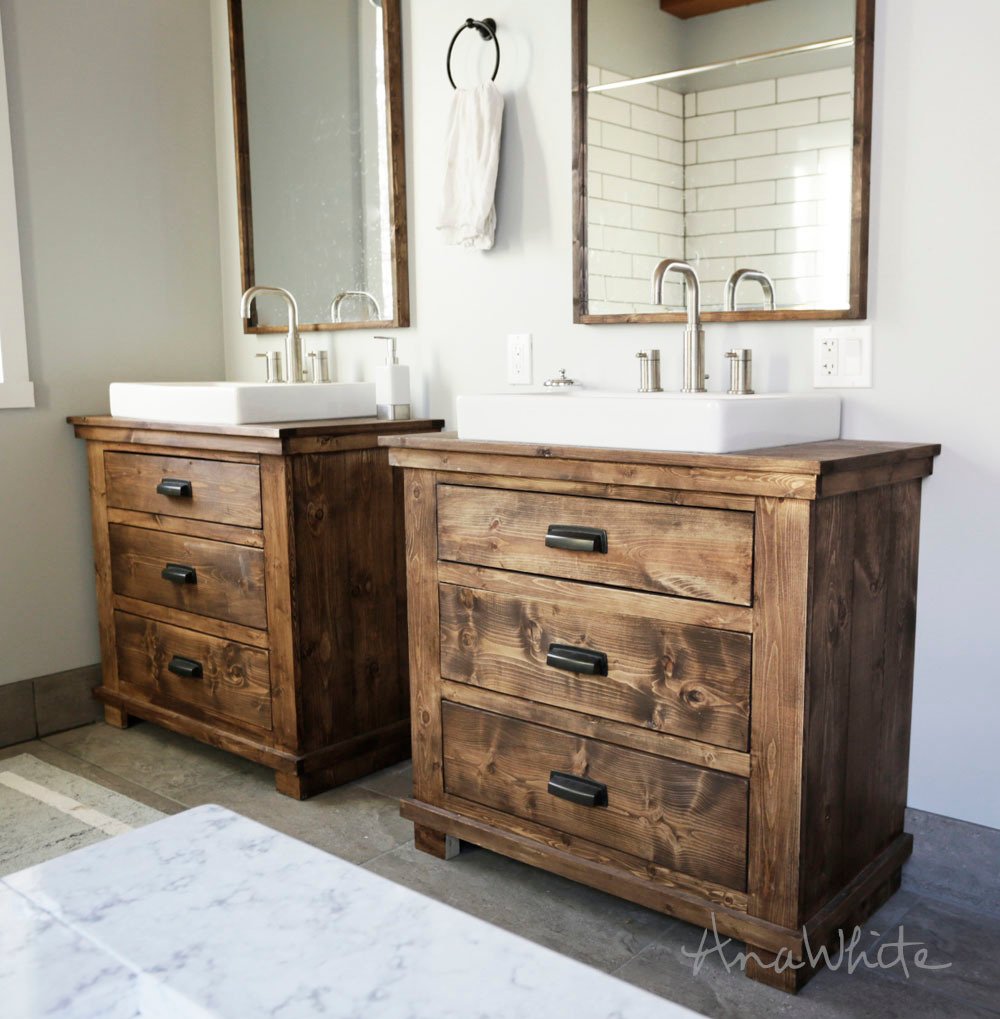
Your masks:
M449 245L487 250L496 229L496 170L499 166L504 97L492 82L457 89L445 140L446 166L437 228Z

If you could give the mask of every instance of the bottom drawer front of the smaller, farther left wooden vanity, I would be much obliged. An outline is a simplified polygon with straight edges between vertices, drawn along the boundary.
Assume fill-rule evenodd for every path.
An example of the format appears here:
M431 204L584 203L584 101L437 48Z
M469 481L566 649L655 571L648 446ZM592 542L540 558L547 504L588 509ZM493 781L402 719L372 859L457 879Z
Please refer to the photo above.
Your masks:
M266 651L193 630L114 613L118 686L160 707L271 728L271 680ZM170 671L175 658L199 662L200 678Z

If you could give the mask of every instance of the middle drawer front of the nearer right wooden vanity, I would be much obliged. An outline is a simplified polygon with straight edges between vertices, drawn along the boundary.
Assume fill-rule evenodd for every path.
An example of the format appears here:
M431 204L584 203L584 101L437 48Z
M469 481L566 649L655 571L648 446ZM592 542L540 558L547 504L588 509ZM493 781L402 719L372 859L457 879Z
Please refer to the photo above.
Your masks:
M440 585L439 601L448 680L746 750L748 634L455 584ZM559 646L602 653L603 667L587 675L587 656ZM568 671L575 657L583 672Z

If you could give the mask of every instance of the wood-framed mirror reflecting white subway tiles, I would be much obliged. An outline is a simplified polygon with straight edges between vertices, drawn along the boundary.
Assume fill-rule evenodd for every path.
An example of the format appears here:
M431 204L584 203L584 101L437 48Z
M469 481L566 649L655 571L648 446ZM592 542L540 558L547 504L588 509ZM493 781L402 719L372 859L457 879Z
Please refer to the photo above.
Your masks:
M694 266L709 319L863 316L870 7L579 0L578 321L681 317L680 276L651 303L663 258ZM773 281L772 314L752 277L727 305L738 269Z

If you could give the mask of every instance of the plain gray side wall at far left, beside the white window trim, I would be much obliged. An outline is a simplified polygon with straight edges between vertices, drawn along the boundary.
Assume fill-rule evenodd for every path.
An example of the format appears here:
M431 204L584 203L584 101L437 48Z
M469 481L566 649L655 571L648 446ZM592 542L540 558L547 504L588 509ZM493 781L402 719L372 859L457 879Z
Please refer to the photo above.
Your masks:
M203 0L0 0L37 409L0 411L0 683L99 658L84 445L112 379L218 377Z

